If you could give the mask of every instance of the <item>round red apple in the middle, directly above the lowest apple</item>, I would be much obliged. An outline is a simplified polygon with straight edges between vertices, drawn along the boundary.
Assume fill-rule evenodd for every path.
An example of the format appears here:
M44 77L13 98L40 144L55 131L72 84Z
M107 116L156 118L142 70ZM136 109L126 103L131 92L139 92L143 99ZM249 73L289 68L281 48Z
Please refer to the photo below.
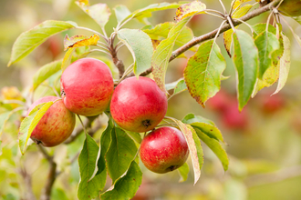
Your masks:
M167 111L167 97L148 77L130 77L114 91L110 112L115 122L133 132L147 132L158 125Z

